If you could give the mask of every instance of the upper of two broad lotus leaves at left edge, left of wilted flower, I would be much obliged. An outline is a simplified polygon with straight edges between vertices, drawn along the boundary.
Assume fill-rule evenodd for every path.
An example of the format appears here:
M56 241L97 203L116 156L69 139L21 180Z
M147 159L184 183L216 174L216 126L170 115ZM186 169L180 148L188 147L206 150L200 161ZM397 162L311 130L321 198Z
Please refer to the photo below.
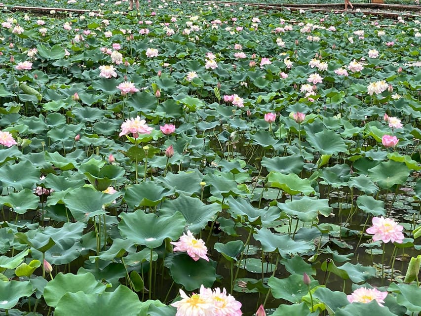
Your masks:
M5 165L0 168L0 181L3 187L17 191L31 189L39 182L39 170L28 160Z

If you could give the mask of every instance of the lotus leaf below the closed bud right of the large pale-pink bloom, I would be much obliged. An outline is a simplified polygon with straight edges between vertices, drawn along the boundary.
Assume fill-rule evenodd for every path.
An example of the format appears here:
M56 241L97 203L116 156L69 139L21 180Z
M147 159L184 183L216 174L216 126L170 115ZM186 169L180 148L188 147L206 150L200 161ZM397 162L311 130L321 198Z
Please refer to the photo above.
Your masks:
M191 196L199 195L201 191L200 182L203 175L194 169L194 171L181 171L179 173L167 173L163 178L156 178L169 189L174 189L178 194Z

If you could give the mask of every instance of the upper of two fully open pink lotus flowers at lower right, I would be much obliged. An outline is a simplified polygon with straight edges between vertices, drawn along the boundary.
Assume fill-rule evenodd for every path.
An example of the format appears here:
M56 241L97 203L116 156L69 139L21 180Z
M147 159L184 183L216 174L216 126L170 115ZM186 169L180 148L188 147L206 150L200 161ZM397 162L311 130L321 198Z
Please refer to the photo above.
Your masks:
M402 243L405 238L402 234L403 226L396 223L391 218L373 217L373 226L366 232L374 235L373 241L382 240L384 243L389 241Z

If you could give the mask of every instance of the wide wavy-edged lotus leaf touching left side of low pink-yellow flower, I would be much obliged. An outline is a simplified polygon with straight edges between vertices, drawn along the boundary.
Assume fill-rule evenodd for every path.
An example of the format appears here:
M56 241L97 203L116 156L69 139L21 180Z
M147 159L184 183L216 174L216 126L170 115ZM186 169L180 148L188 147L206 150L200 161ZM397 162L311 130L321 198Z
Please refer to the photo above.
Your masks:
M177 239L186 225L183 214L178 211L171 216L158 217L153 213L136 210L133 213L121 213L119 217L121 221L118 230L121 237L148 248L159 247L165 238Z

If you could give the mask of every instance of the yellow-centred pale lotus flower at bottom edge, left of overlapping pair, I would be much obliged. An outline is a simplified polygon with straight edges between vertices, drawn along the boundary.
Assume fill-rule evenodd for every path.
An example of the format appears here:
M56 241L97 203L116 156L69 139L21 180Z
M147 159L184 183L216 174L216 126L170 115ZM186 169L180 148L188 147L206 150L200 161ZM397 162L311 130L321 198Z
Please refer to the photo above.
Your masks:
M199 294L192 294L190 297L180 289L181 300L172 303L171 306L177 308L175 316L214 316L212 302L204 298L201 293L205 287L200 286Z

